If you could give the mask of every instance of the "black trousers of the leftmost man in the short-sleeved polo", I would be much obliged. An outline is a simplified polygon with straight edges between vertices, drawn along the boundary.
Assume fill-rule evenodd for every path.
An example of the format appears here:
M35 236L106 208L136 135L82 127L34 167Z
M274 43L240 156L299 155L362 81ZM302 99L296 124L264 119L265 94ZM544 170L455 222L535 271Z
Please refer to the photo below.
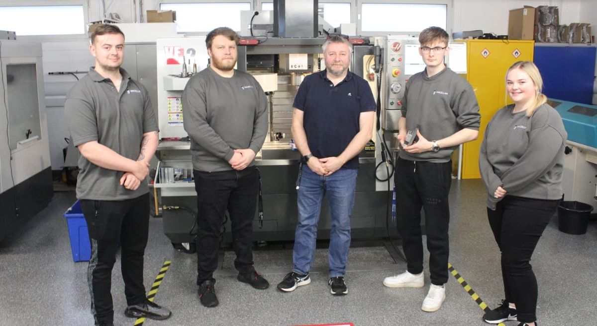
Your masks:
M149 231L149 194L128 200L81 199L91 240L87 282L96 323L112 321L112 267L121 246L121 269L128 305L145 300L143 254Z

